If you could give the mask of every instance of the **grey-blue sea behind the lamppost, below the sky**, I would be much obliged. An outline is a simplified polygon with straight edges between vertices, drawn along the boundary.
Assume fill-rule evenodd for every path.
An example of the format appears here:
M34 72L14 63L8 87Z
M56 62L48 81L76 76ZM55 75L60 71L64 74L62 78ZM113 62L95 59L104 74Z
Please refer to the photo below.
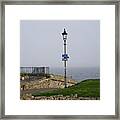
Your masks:
M64 68L50 68L50 73L55 75L64 75ZM85 79L100 79L100 68L98 67L72 67L67 68L67 78L83 81Z

